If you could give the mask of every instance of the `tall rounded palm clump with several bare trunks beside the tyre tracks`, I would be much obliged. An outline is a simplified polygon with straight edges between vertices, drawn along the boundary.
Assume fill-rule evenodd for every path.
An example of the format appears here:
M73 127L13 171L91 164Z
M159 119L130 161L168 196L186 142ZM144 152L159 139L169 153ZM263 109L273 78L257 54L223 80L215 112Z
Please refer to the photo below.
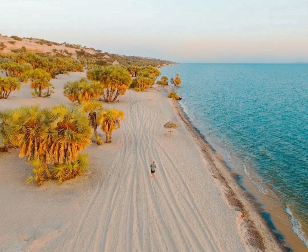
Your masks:
M124 95L132 78L121 66L99 67L87 71L87 78L99 81L103 89L102 95L105 102L114 102L119 95Z

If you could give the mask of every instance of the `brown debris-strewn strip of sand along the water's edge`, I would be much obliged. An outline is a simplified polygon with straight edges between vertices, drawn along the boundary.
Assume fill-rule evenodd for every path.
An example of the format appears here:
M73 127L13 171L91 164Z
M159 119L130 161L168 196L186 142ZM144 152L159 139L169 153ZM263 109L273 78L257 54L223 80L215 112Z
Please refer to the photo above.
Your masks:
M269 223L262 217L260 206L254 196L244 191L244 188L237 182L239 175L227 166L221 156L218 156L217 151L207 142L205 136L194 126L184 112L182 105L174 100L173 107L184 122L188 132L199 145L202 154L210 160L216 170L205 169L208 169L212 176L224 187L224 196L229 205L234 207L234 210L240 211L238 217L242 219L241 225L248 227L251 245L259 246L258 249L261 250L267 250L266 245L274 241L279 249L287 251L288 248L279 240Z

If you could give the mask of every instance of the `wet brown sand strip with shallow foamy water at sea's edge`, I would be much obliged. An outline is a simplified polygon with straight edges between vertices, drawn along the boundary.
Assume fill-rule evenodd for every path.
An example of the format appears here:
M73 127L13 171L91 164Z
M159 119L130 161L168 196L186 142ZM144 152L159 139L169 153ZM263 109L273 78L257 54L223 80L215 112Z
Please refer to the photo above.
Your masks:
M226 170L227 173L229 173L229 177L234 182L232 183L233 186L237 187L240 194L245 194L244 197L249 199L254 210L257 211L259 217L264 222L264 225L270 230L283 248L286 250L306 251L306 243L299 237L298 230L294 230L294 220L291 220L291 218L294 219L294 217L288 206L284 206L280 201L278 201L277 196L266 184L263 184L265 187L263 189L266 193L260 191L259 188L256 187L257 185L254 184L255 181L252 180L250 177L251 175L247 170L241 172L241 170L229 167L226 157L224 157L221 152L217 151L215 149L216 146L209 143L206 136L193 124L193 121L184 111L184 107L180 101L175 101L174 107L179 113L181 119L188 124L188 127L191 128L193 134L196 135L196 138L198 139L197 141L200 140L203 142L209 149L209 152L212 151L215 158L223 163L225 166L225 169L223 170ZM253 171L249 170L249 172L253 174ZM253 177L256 176L256 174L253 174ZM298 227L296 226L295 228ZM300 231L302 232L301 229Z

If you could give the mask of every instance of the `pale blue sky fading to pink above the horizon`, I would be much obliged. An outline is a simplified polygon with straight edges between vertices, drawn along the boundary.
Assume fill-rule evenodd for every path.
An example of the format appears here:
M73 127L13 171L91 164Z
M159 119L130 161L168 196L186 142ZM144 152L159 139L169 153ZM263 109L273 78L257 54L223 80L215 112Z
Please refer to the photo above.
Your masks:
M180 63L308 62L308 1L1 0L0 33Z

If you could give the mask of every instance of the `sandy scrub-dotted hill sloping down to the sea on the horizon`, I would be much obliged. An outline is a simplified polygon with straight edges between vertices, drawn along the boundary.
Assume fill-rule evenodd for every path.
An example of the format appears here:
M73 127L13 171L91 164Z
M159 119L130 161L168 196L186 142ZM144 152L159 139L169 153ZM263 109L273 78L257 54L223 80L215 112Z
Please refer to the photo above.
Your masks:
M27 51L39 55L45 54L52 56L66 56L75 59L80 57L84 57L86 59L90 58L93 59L93 64L100 66L121 64L124 66L137 65L142 67L151 65L154 67L163 67L175 63L163 59L112 54L109 52L96 50L93 47L85 47L77 44L69 44L66 42L57 43L45 39L20 38L18 36L0 36L0 43L3 43L6 46L0 54L2 56Z

